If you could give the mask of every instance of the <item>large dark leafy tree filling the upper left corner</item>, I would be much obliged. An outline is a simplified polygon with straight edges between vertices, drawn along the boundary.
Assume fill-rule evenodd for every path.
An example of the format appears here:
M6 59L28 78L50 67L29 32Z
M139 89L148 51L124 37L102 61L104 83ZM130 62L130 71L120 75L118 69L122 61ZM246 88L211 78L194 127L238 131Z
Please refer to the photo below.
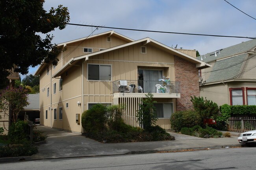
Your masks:
M1 0L0 1L0 82L12 68L21 74L28 67L43 61L57 65L61 52L51 43L52 35L41 38L55 28L64 29L69 22L67 7L59 5L49 12L43 8L44 0Z

